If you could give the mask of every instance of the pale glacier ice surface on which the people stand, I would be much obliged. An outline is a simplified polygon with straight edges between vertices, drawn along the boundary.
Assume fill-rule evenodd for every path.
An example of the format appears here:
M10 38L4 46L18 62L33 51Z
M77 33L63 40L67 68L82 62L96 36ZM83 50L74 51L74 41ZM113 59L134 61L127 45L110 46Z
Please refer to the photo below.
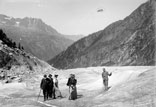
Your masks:
M58 74L64 98L39 101L39 84L43 74L34 75L22 83L0 83L0 107L156 107L155 66L105 67L112 72L110 89L104 91L102 68L89 67L51 71ZM66 86L69 74L75 74L78 99L68 100Z

